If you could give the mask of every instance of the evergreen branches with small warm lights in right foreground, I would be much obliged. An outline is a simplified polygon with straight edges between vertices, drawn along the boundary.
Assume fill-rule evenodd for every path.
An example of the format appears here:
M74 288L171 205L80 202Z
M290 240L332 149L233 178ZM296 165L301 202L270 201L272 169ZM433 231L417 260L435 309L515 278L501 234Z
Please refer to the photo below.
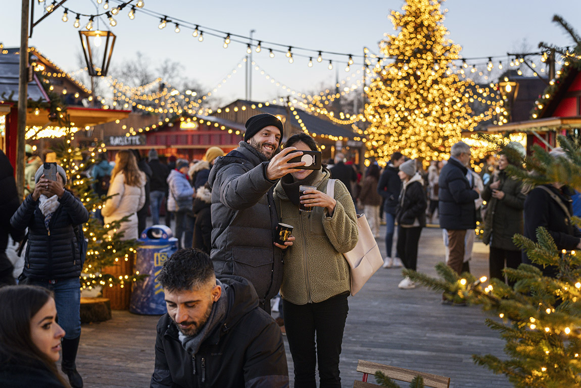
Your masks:
M533 173L507 168L508 173L530 185L562 182L581 188L581 143L558 137L567 157L553 158L535 145L535 154L526 160ZM573 217L576 225L581 219ZM504 273L515 280L510 287L486 277L476 279L469 273L458 275L444 263L436 265L440 279L413 270L404 270L414 282L443 291L453 304L479 304L498 319L486 324L500 332L505 340L507 360L494 355L473 355L477 364L508 377L515 387L578 387L581 384L581 253L558 251L551 235L543 227L537 242L515 235L514 241L526 251L531 261L541 267L554 266L556 277L543 276L537 266L521 264Z

